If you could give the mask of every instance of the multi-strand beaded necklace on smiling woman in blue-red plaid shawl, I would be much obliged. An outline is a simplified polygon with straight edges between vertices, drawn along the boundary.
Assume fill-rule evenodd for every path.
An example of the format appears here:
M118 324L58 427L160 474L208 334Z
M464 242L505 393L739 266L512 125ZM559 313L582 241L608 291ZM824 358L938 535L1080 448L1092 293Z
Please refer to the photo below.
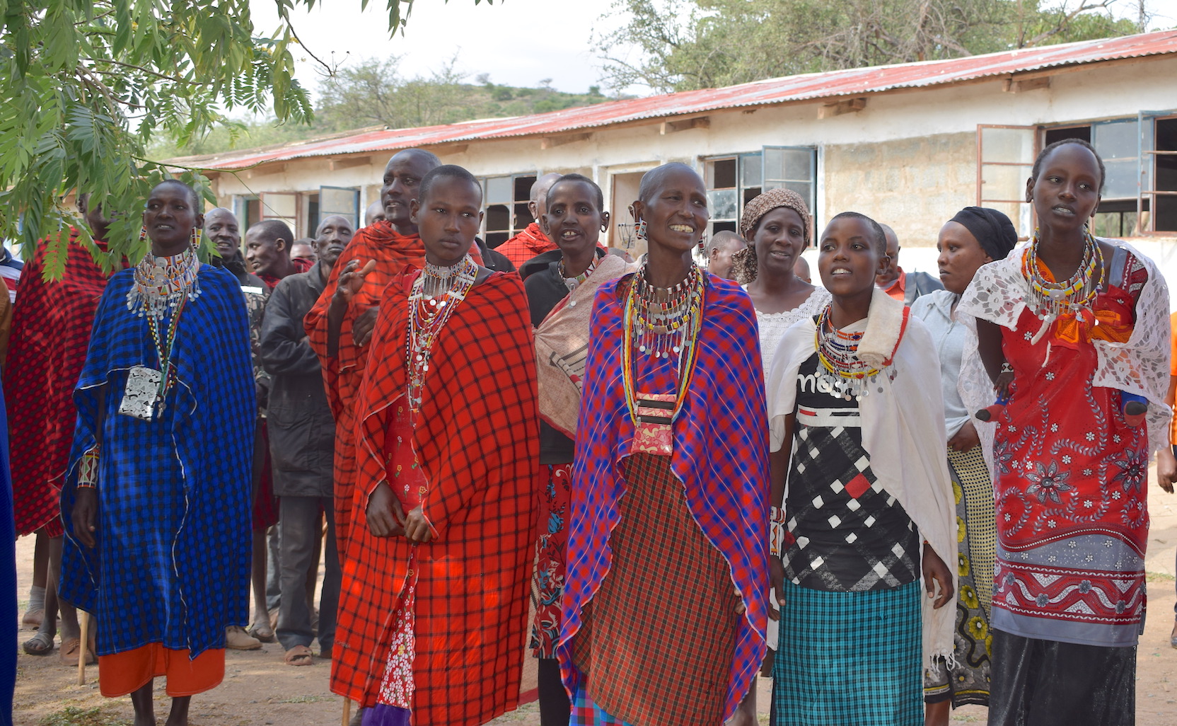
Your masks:
M706 289L706 278L699 274L699 268L691 265L686 278L671 288L654 287L646 281L646 267L634 275L625 298L625 318L621 341L621 379L625 386L625 402L630 409L633 425L638 425L638 397L633 354L645 353L654 358L670 358L671 352L678 357L678 391L674 395L674 408L670 414L673 421L686 402L686 392L691 387L694 364L698 360L699 329L703 327L703 299ZM665 302L658 302L658 291L669 293ZM673 295L681 294L685 301L673 301ZM672 302L673 301L673 302ZM654 312L651 312L651 311ZM674 314L676 309L683 312ZM653 326L651 320L661 321Z

